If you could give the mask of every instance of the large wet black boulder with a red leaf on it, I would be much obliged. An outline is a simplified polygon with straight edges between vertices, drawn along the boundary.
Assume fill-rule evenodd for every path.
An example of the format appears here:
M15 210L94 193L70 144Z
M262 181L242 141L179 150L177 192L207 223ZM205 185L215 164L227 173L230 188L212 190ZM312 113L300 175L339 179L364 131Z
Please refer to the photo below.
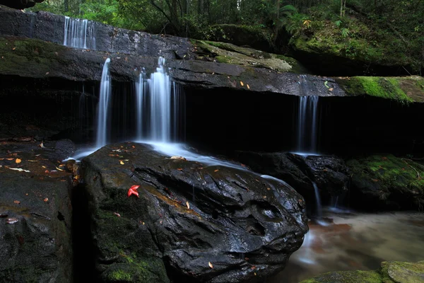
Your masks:
M126 143L84 158L83 171L103 282L260 282L307 232L302 197L247 170Z

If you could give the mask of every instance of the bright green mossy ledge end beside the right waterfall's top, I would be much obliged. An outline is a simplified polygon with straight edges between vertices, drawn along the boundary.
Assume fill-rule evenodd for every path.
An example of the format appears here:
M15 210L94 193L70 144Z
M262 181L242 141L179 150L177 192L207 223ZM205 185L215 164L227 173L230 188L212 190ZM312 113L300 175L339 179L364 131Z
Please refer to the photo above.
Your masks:
M401 103L424 103L422 76L353 76L336 81L348 96L375 96Z

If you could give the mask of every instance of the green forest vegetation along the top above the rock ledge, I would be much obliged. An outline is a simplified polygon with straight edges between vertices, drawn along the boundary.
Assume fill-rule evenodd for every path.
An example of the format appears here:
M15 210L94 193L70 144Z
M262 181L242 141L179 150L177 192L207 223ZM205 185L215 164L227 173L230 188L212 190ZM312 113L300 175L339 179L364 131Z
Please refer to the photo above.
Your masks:
M289 43L411 74L424 62L421 0L45 0L31 9L200 40L231 37L223 24L233 24L268 34L279 53Z

